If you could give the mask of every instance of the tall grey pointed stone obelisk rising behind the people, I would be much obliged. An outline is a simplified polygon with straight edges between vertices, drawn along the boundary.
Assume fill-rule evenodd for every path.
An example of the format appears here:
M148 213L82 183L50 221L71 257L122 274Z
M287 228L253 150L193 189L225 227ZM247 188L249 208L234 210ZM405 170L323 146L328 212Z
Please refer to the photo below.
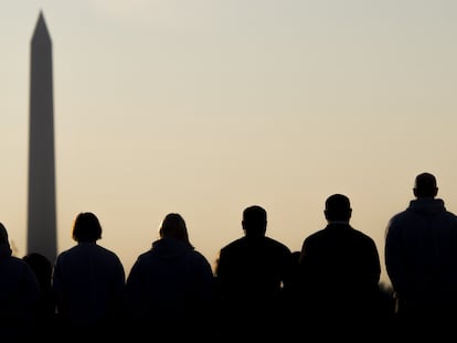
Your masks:
M40 12L31 41L26 254L57 254L52 42Z

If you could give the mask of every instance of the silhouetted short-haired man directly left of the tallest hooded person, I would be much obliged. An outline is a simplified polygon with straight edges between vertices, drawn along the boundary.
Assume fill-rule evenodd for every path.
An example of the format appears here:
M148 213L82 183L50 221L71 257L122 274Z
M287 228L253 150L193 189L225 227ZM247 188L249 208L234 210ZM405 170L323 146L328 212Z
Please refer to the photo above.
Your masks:
M306 237L301 247L302 324L308 323L308 333L321 342L336 335L370 342L389 329L382 311L376 245L350 225L348 196L330 195L323 214L327 226Z

